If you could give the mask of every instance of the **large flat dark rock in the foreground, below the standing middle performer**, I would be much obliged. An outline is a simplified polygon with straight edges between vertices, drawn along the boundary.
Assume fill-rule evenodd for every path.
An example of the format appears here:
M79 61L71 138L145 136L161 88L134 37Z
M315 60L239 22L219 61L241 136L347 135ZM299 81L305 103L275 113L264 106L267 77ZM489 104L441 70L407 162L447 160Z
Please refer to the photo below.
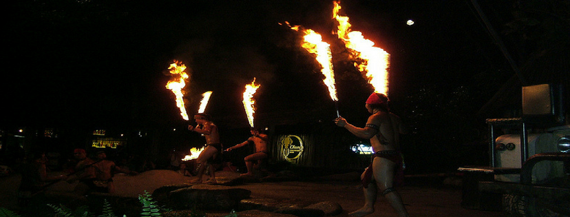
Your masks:
M171 209L227 210L236 209L251 191L220 185L193 185L173 190L164 205Z

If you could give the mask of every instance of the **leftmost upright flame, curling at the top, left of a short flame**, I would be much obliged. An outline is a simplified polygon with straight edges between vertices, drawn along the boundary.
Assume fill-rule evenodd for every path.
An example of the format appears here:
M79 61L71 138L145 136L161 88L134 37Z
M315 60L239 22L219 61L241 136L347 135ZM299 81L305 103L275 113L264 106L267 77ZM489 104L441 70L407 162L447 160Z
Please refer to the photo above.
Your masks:
M170 64L168 68L170 70L170 75L172 79L168 81L166 87L167 89L171 90L174 95L176 96L176 106L180 108L180 115L184 120L188 121L188 114L186 113L186 107L184 106L184 93L182 92L182 88L186 85L184 79L188 79L189 76L184 70L186 70L186 66L184 64L178 65L176 61Z

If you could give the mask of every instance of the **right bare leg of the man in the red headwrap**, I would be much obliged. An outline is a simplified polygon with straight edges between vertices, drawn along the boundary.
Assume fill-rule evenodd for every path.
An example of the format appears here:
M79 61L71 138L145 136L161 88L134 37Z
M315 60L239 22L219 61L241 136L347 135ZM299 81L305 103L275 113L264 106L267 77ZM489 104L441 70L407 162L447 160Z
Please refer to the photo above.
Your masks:
M374 180L381 192L394 186L394 170L396 163L386 158L374 158L372 164L374 168ZM397 211L399 216L408 216L408 211L405 209L402 198L398 192L390 192L384 197L388 200L390 205Z

